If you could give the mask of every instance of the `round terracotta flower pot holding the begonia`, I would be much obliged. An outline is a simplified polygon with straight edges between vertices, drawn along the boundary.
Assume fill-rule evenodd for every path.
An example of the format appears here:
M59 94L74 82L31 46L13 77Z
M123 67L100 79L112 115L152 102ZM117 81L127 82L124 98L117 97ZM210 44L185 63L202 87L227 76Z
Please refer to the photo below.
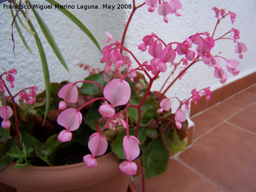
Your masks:
M18 192L126 192L129 176L119 169L114 153L97 158L98 166L87 168L83 163L66 166L28 166L13 169L14 164L0 172L0 181Z

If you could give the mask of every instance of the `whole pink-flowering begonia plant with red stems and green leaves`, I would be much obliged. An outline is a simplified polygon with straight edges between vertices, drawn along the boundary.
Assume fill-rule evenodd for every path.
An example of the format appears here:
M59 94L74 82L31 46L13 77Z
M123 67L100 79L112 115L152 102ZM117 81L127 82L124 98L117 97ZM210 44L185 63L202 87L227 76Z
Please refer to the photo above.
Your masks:
M221 53L211 54L220 39L233 41L234 52L240 59L247 48L238 42L238 29L228 29L222 36L214 36L220 21L230 17L233 23L236 18L235 13L214 7L216 24L212 33L198 32L182 42L165 42L152 32L136 45L152 59L139 60L125 47L124 39L134 12L142 6L148 6L149 12L158 9L165 23L168 23L169 14L181 16L177 12L182 8L178 0L145 0L138 6L133 0L133 10L122 41L106 32L104 42L107 45L102 49L103 56L99 61L104 66L103 70L79 63L79 67L89 71L88 77L74 83L51 84L51 109L43 128L40 126L44 115L44 93L36 96L37 88L34 86L12 95L6 83L10 82L10 87L14 87L13 75L17 71L11 69L0 75L1 92L8 93L8 96L1 97L3 105L0 107L3 119L0 139L2 150L5 150L1 169L14 159L18 159L17 168L35 162L36 165L50 166L68 164L64 159L69 148L81 149L79 152L70 150L72 156L93 169L98 165L96 157L112 150L120 159L119 168L123 173L135 174L137 165L133 161L140 157L142 176L149 178L166 170L171 152L185 150L188 127L185 109L189 109L190 102L196 105L202 95L209 100L210 87L194 88L186 99L176 97L175 93L167 97L166 93L197 62L212 67L213 77L222 84L227 80L226 71L234 76L239 74L238 60L225 58ZM172 72L162 87L159 91L151 91L153 83L161 78L161 73L167 72L167 68ZM174 79L169 82L171 76ZM78 87L78 83L82 86ZM16 96L20 96L20 105L14 102ZM178 103L178 108L172 109L173 102ZM87 146L89 150L86 153ZM38 157L41 159L39 163Z

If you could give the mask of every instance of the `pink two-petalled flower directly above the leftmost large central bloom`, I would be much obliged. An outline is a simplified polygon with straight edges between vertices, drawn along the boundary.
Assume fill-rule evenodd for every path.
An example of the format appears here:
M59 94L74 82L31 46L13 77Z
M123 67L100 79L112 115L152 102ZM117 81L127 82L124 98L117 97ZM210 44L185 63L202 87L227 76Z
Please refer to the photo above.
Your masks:
M75 83L68 83L64 85L58 92L58 97L64 99L59 102L59 110L66 108L66 103L76 103L78 98L78 91Z

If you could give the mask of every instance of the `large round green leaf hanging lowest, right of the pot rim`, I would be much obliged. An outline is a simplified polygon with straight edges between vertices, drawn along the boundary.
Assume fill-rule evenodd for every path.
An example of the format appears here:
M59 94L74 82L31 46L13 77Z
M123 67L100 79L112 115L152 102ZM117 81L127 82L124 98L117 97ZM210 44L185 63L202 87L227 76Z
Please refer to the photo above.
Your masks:
M169 156L162 143L158 139L153 139L142 154L145 177L151 178L162 174L168 166Z

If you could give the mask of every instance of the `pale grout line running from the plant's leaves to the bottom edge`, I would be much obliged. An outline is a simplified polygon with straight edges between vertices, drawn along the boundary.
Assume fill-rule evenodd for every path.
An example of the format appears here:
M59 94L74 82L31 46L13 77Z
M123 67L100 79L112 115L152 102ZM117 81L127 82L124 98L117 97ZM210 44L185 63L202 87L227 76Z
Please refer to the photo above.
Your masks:
M184 167L186 167L187 169L189 169L190 171L192 171L193 173L195 173L196 175L198 175L199 177L201 177L202 179L204 179L205 181L207 181L208 183L212 184L213 186L217 187L218 189L220 189L223 192L231 192L230 190L226 189L225 187L223 187L222 185L218 184L216 181L209 179L208 177L206 177L204 174L202 174L200 171L194 169L193 167L191 167L190 165L188 165L187 163L185 163L184 161L182 161L182 159L180 159L178 156L173 157L173 159L175 159L178 163L180 163L181 165L183 165Z

